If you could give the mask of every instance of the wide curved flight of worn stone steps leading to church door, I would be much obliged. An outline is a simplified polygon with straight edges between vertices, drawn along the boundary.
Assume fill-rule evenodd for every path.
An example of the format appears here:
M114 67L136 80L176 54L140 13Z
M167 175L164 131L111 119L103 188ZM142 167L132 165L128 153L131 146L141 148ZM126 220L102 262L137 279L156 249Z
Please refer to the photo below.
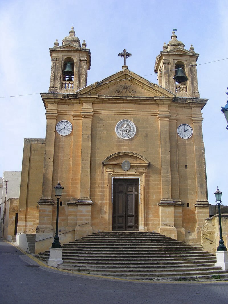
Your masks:
M153 232L93 233L63 246L59 268L144 280L225 278L215 255ZM48 261L49 251L38 256Z

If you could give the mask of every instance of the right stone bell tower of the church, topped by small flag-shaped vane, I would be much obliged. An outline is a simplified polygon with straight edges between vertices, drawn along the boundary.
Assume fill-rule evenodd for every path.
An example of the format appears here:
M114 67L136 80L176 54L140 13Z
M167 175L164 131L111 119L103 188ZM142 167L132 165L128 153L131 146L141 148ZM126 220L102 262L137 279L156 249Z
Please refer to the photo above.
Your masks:
M168 44L164 43L163 51L156 57L154 71L158 73L158 84L177 97L199 98L196 71L198 57L192 44L186 50L185 45L177 40L175 32L172 32L171 40Z

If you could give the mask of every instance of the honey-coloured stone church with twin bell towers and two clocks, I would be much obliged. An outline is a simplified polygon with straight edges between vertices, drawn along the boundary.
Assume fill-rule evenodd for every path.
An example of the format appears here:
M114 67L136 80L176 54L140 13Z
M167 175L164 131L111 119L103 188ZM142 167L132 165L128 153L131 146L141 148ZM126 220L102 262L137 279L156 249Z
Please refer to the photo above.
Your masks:
M201 241L209 203L199 54L173 32L155 59L158 85L119 55L121 71L87 86L91 54L74 28L50 48L46 138L25 139L19 202L18 234L36 233L36 252L53 241L58 181L61 244L112 230Z

